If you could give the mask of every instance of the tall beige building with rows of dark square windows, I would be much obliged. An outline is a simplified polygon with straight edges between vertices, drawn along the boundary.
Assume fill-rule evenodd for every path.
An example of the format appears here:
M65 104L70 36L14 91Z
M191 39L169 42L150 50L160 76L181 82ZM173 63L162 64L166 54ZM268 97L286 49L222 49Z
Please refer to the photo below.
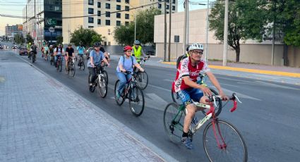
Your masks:
M71 33L83 26L83 28L93 28L103 37L103 44L116 45L113 33L114 27L128 24L135 18L136 12L140 11L138 6L145 8L156 7L163 13L164 3L162 0L114 0L114 1L94 1L94 0L62 0L63 4L63 37L64 44L70 42ZM157 2L157 4L153 4ZM66 5L69 4L69 5ZM153 4L148 6L148 4ZM177 12L178 0L170 0L167 3L167 13L170 9ZM119 12L118 12L119 11Z

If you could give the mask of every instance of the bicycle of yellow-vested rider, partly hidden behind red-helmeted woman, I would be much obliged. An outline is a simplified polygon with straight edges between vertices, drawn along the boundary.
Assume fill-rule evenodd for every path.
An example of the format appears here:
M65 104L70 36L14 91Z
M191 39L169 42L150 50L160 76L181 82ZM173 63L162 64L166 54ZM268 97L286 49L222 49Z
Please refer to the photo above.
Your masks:
M143 66L147 60L146 58L150 58L150 56L140 58L140 66ZM145 72L145 70L141 72L138 68L134 68L134 71L136 73L134 73L133 77L138 82L138 87L140 87L140 89L145 89L148 86L148 74Z

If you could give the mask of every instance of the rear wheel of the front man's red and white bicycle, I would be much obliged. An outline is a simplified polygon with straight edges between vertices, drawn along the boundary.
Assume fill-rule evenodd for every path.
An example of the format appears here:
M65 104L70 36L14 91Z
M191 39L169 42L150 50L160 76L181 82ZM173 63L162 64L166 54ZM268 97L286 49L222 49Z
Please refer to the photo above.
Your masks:
M184 118L186 116L184 111L179 111L179 108L179 104L174 102L164 108L164 130L169 139L175 144L181 143L181 135L184 130Z

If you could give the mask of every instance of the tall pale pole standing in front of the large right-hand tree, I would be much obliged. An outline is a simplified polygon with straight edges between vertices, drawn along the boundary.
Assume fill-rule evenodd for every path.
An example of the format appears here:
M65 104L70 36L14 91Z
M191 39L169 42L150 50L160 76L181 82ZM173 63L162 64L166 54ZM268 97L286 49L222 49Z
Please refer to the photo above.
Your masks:
M225 0L223 66L227 66L228 0Z

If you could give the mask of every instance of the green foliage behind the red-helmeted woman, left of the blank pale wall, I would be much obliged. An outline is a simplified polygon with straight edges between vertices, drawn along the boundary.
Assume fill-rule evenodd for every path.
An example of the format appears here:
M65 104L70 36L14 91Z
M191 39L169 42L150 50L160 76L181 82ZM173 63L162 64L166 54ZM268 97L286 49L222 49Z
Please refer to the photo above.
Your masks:
M159 15L157 8L139 11L136 15L136 39L142 44L153 44L154 42L154 17ZM134 42L134 22L121 25L114 29L114 39L121 45L132 45Z

